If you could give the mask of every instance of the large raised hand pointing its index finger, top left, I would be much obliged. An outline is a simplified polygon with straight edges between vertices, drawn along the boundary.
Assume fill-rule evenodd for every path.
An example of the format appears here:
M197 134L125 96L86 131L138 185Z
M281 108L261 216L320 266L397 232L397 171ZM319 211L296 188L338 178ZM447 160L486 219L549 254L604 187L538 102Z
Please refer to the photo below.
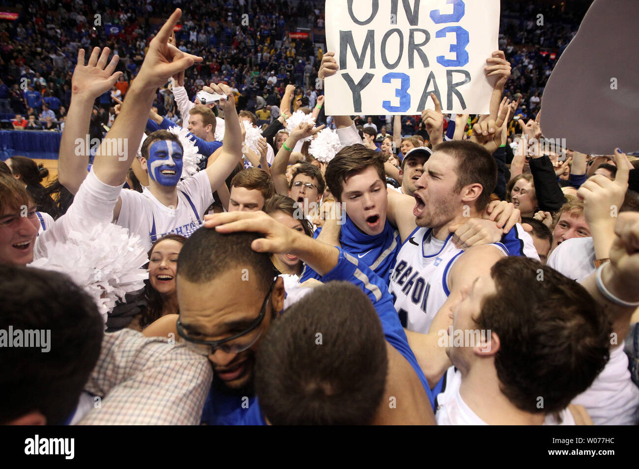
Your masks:
M203 60L202 57L185 54L169 43L171 32L181 15L182 11L177 8L151 40L142 67L133 82L135 86L142 86L146 91L155 90L163 86L169 78Z

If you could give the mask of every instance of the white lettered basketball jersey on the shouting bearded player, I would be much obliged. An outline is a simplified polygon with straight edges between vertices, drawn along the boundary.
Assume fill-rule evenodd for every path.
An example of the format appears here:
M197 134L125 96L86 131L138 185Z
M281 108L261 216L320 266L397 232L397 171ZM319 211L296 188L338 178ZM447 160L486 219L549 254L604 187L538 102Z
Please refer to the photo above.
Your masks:
M404 241L389 285L402 325L422 334L428 332L435 315L448 299L450 267L463 253L452 243L452 233L445 241L431 234L431 228L417 228ZM493 243L493 246L509 255L504 244Z

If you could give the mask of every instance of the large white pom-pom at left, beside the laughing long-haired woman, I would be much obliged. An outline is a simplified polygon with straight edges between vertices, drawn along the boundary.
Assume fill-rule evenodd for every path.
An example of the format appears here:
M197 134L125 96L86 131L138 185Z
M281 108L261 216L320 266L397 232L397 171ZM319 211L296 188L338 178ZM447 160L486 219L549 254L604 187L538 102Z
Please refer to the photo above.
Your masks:
M107 313L129 292L144 287L149 260L138 235L113 223L97 225L91 233L72 231L66 241L50 245L49 257L39 258L29 267L64 272L93 297L100 314Z

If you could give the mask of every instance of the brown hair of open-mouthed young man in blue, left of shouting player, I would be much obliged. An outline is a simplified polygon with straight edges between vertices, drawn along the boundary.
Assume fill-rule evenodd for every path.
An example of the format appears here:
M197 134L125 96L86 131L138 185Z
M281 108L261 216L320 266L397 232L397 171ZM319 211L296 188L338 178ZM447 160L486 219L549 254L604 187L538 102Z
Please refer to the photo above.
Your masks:
M365 147L364 145L348 145L335 155L326 167L326 182L328 189L337 202L342 201L343 184L351 176L359 174L373 166L380 177L381 182L386 182L386 172L384 162L378 152Z

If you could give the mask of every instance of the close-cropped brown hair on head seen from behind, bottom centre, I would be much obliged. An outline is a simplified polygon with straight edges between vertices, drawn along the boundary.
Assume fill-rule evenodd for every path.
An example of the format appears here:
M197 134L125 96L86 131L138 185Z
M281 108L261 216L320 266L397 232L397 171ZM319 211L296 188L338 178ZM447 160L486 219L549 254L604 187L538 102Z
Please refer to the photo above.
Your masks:
M332 281L272 323L257 354L256 392L274 425L365 425L387 369L373 304L352 283Z

